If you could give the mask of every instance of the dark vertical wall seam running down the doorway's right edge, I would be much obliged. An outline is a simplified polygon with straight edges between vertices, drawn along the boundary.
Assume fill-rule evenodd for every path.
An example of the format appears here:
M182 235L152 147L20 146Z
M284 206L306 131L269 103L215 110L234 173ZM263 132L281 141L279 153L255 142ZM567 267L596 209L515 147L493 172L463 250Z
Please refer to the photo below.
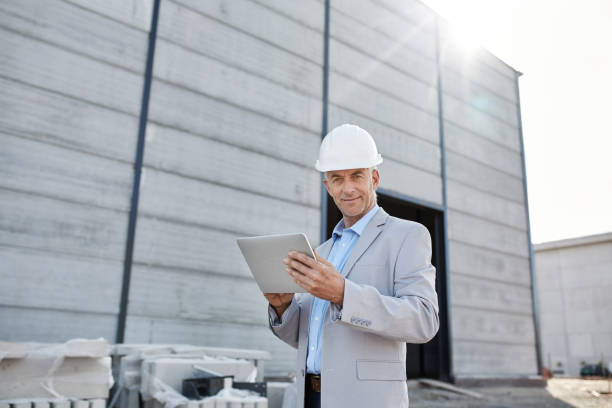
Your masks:
M442 218L444 234L444 279L446 289L446 333L448 349L448 375L454 381L453 375L453 344L451 333L451 299L450 299L450 258L448 255L448 207L446 203L446 147L444 143L444 109L442 103L442 66L440 59L440 18L436 15L436 69L437 69L437 92L438 92L438 125L440 135L440 174L442 176ZM442 374L442 373L441 373Z

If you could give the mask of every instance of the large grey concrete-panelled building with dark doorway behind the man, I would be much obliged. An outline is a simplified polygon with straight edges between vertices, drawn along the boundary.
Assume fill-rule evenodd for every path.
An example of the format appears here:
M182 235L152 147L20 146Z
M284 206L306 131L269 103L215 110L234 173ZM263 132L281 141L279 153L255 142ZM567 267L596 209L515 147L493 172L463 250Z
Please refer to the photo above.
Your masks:
M432 233L442 327L410 376L538 372L518 76L414 0L0 3L0 337L294 351L235 238L337 220L353 122Z

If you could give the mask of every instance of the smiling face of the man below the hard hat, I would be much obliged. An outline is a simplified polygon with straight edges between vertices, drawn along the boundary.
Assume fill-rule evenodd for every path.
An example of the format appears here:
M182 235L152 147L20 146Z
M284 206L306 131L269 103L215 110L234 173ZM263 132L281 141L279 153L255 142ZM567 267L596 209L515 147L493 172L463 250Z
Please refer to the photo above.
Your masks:
M378 170L334 170L323 180L327 192L344 217L361 218L374 205L374 192L378 187Z

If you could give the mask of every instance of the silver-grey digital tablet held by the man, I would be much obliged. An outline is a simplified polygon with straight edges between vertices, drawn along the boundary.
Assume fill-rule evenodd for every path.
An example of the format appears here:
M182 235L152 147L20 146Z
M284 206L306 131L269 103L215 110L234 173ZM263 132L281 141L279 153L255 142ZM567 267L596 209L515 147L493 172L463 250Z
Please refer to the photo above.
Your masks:
M285 270L283 259L289 251L297 251L315 259L305 234L263 235L236 240L251 274L263 293L301 293L304 288L295 283Z

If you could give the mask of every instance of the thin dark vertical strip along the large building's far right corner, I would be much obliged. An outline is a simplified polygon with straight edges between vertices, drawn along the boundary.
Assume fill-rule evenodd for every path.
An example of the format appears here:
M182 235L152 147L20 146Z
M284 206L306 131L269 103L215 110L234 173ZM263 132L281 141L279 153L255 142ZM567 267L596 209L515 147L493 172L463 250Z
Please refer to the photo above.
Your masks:
M521 94L519 91L518 79L520 73L514 73L516 89L516 105L519 122L519 136L521 141L521 162L523 165L523 194L525 195L525 217L527 219L527 242L529 250L529 274L531 276L531 304L533 308L533 329L536 342L536 363L538 374L542 374L542 351L540 350L540 319L538 316L538 293L535 276L535 265L533 257L533 244L531 243L531 221L529 220L529 199L527 198L527 166L525 163L525 142L523 140L523 118L521 115ZM552 367L551 367L552 369Z

